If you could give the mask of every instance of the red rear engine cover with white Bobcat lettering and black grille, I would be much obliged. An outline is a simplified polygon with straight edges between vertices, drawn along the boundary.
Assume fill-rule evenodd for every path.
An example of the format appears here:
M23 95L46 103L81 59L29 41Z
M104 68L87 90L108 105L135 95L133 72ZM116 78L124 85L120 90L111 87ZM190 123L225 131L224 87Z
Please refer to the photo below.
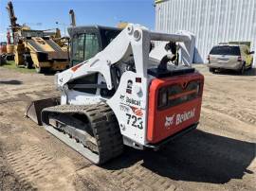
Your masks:
M152 80L148 99L149 143L158 143L199 121L203 84L204 77L199 73Z

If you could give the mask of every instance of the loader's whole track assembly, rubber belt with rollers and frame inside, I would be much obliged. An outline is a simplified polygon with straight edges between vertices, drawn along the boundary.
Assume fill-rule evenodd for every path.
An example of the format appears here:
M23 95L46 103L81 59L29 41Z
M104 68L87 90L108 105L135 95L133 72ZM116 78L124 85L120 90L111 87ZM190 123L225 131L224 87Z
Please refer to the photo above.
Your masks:
M117 118L104 103L49 107L42 112L42 122L47 131L94 164L102 164L122 152Z

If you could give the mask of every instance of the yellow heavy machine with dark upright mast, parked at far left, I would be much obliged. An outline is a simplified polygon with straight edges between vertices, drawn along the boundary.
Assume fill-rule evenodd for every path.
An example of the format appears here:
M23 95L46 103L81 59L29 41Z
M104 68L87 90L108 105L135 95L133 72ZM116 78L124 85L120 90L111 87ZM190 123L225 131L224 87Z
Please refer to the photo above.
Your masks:
M16 23L12 3L7 6L17 66L35 67L38 73L62 71L68 67L68 52L56 43L45 30L33 30Z

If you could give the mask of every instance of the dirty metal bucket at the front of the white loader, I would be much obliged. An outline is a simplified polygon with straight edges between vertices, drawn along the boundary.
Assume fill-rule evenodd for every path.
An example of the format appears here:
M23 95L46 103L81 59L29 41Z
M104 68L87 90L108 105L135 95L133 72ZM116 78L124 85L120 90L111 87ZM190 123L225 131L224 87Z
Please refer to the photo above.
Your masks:
M41 113L42 111L51 106L56 106L60 104L60 98L59 97L50 97L46 99L39 99L32 101L27 106L27 110L25 115L30 118L32 121L37 123L38 125L42 126L42 120L41 120Z

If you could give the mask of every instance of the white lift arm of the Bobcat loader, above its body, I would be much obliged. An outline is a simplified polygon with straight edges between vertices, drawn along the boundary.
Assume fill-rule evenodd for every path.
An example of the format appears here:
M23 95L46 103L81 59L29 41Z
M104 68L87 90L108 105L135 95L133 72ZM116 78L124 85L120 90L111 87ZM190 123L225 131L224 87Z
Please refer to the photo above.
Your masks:
M71 80L93 73L101 73L105 79L107 88L111 90L113 88L111 65L119 61L124 61L131 55L133 55L136 63L137 74L145 78L147 76L148 65L143 63L149 62L151 41L181 42L181 51L184 53L183 63L190 65L192 62L192 54L190 54L191 39L192 35L190 33L155 33L150 32L144 26L129 24L95 57L87 61L82 61L82 63L57 74L57 86L60 89L64 89L64 84ZM159 60L157 56L155 59Z

